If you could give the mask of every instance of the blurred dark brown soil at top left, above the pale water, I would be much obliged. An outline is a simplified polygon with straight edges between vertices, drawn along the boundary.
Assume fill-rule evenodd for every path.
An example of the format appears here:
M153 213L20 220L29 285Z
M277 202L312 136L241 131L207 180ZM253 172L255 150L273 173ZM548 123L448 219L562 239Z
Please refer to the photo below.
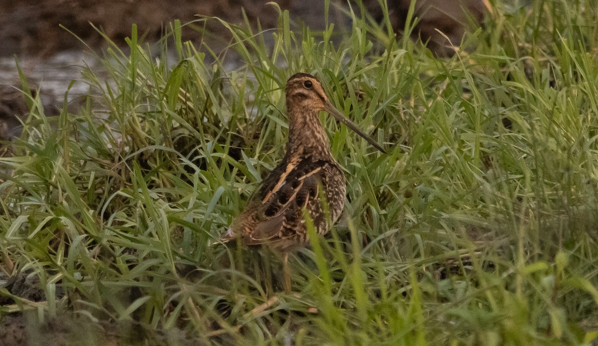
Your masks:
M286 7L289 1L282 1ZM124 42L130 36L133 23L148 41L160 38L162 27L175 19L186 23L197 19L196 14L218 16L230 22L242 20L241 7L246 8L250 20L260 18L267 27L276 24L272 6L260 0L0 0L0 55L42 54L57 50L83 48L68 28L81 39L98 47L103 39L90 23L99 27L109 38Z

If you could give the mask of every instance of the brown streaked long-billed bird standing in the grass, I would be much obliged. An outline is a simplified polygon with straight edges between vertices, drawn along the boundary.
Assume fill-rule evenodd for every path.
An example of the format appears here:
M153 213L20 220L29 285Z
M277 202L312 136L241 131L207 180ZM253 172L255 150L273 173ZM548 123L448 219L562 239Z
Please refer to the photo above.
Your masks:
M289 253L309 244L304 211L316 232L325 234L340 217L346 199L346 178L332 156L319 112L328 112L379 151L385 150L332 105L315 76L292 75L286 82L285 97L289 122L285 155L262 180L221 241L265 244L281 253L285 291L290 293Z

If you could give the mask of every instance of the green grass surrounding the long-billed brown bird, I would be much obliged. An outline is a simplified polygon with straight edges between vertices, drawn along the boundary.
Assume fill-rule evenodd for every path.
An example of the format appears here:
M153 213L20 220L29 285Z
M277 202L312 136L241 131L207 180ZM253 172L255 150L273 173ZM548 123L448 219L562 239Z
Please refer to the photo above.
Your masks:
M2 269L47 296L0 290L0 314L222 345L596 342L598 4L492 4L450 59L350 13L350 32L292 31L286 12L276 30L222 22L219 55L175 22L156 57L133 27L128 53L99 57L107 81L82 68L77 112L30 100L35 126L0 159ZM282 158L300 71L388 154L322 115L348 202L291 259L286 295L276 256L212 243Z

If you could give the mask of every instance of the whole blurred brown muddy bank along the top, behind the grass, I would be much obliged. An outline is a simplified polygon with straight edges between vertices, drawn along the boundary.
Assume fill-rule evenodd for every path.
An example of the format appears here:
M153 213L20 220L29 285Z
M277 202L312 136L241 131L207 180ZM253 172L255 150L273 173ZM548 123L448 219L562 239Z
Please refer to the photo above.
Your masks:
M289 10L291 17L305 22L315 29L324 25L324 1L276 0L283 10ZM395 32L404 27L410 0L389 0L390 22ZM365 8L378 20L382 20L382 11L377 0L364 0ZM354 9L359 9L356 1ZM249 22L260 22L261 27L276 26L277 11L264 0L147 0L142 5L134 1L112 0L0 0L0 56L28 55L51 56L57 51L82 49L84 45L72 33L60 27L66 27L90 47L102 47L105 40L90 25L93 23L106 35L123 44L130 36L133 23L144 33L146 41L155 41L164 32L164 25L175 19L183 23L198 20L199 16L215 16L227 22L243 21L243 9ZM346 21L341 13L347 10L346 1L331 2L332 21ZM450 53L442 47L446 44L435 29L440 29L454 43L460 42L465 32L468 16L474 22L481 22L484 13L484 0L419 0L416 2L415 16L419 17L419 30L415 35L422 35L424 41L430 39L430 48L439 53ZM467 14L469 13L469 14ZM340 24L340 23L338 23ZM198 22L197 26L206 26L216 36L227 35L226 30L216 21ZM202 39L197 30L188 27L184 38L199 41Z

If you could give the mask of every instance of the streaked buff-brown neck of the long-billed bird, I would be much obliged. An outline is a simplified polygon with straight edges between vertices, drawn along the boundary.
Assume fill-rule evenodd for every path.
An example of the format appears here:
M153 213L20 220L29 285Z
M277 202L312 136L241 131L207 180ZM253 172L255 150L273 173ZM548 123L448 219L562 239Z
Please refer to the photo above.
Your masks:
M289 141L286 155L304 155L317 159L332 158L330 142L322 123L319 111L309 108L290 107Z

